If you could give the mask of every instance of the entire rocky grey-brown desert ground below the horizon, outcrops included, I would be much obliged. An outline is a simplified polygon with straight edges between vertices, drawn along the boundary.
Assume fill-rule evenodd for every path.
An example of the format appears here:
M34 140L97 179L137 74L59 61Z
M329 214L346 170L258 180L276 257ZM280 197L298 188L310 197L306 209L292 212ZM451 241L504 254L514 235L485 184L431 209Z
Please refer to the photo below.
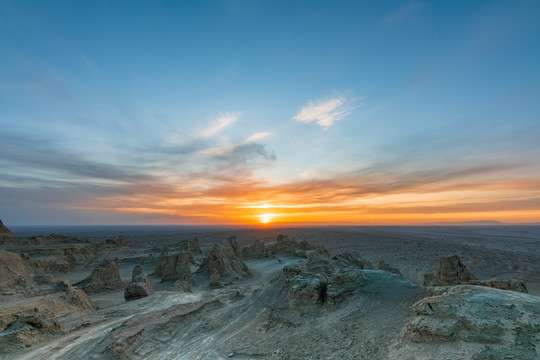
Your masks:
M539 226L5 229L1 359L540 358Z

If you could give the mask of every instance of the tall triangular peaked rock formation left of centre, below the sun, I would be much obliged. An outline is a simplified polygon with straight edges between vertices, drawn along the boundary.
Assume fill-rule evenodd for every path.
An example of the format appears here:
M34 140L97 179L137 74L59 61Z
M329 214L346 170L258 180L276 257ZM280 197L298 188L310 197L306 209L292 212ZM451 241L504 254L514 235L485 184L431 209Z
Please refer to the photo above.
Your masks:
M242 253L235 236L224 241L224 245L214 246L210 255L204 259L196 273L209 275L218 274L220 279L225 277L250 276L249 269L242 259Z

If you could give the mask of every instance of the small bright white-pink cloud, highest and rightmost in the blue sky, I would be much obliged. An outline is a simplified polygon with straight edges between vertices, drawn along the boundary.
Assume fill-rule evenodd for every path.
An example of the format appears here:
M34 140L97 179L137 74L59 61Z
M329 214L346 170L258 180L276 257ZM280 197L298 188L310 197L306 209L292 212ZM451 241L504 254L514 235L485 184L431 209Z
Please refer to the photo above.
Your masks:
M348 105L349 102L344 97L310 101L293 119L302 123L316 122L317 125L328 129L336 121L350 114Z

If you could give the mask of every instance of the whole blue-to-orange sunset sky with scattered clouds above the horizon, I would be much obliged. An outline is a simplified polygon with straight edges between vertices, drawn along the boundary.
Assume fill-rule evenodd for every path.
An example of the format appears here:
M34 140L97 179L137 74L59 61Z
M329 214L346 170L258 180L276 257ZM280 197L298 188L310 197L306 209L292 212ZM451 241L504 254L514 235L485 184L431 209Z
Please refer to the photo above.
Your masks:
M533 0L0 0L0 219L538 222L539 39Z

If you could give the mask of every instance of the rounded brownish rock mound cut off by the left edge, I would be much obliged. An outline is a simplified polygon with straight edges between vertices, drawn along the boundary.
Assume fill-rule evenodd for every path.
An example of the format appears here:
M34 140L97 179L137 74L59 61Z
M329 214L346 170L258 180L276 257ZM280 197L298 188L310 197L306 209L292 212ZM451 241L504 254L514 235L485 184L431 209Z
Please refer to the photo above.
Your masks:
M32 269L21 255L0 250L0 291L24 289L31 276Z

